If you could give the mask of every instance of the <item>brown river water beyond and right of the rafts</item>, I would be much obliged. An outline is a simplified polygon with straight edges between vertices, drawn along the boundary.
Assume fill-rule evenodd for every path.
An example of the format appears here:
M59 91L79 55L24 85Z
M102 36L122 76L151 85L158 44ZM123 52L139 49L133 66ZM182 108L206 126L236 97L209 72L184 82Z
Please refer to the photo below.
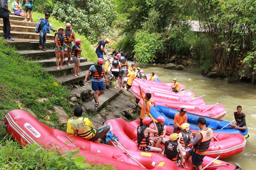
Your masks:
M131 62L129 62L130 67ZM198 69L187 68L184 70L170 70L164 69L162 66L153 65L139 65L136 64L135 68L140 67L144 73L151 74L154 72L158 75L161 82L172 82L173 78L177 78L177 82L184 84L185 90L192 87L191 91L194 92L195 97L203 96L206 105L216 104L222 99L221 105L224 106L227 113L221 120L232 121L234 120L234 112L238 105L242 106L242 112L246 114L246 126L249 129L250 137L247 138L245 149L240 154L223 159L231 164L236 162L242 167L243 170L255 170L256 162L256 86L249 83L238 82L235 84L223 83L220 79L209 79L203 77ZM228 135L228 134L227 134Z

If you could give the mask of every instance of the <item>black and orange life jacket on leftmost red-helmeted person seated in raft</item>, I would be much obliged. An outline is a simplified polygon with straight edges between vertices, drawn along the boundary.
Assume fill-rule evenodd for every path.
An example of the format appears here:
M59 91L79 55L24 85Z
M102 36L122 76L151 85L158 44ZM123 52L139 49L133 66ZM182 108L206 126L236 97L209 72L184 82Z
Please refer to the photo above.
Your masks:
M147 126L138 126L137 128L137 145L139 147L146 147L148 145L151 145L151 142L149 140L149 133L147 136L144 135L144 130L147 128Z

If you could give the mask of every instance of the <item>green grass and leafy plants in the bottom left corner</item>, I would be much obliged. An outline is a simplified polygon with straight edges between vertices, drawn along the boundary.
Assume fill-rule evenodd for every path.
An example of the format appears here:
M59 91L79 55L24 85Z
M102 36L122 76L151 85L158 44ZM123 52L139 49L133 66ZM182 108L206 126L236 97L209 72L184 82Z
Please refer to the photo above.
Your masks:
M86 157L79 156L78 148L69 151L42 149L36 144L21 148L6 136L0 140L1 170L110 170L110 165L84 163ZM89 161L89 160L88 160Z

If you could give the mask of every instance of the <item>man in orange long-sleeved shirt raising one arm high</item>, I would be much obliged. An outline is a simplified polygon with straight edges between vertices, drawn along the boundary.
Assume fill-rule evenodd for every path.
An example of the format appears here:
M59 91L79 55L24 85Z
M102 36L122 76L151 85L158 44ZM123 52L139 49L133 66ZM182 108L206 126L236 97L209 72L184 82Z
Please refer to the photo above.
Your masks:
M140 89L140 96L143 100L142 108L141 108L141 112L140 112L140 125L143 125L142 120L145 117L149 117L149 111L151 109L151 102L150 102L151 94L146 93L145 96L144 96L143 92L140 88L140 84L139 84L139 89Z

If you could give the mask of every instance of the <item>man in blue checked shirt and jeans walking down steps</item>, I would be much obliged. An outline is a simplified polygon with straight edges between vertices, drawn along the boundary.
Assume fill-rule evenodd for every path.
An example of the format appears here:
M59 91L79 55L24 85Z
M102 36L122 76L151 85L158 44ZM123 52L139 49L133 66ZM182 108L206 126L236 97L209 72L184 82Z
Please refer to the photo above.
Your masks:
M57 30L53 29L51 26L50 26L50 22L48 21L48 19L50 18L50 14L47 12L44 14L44 18L41 18L37 25L36 25L36 29L35 29L35 32L36 33L39 33L40 35L40 38L39 38L39 48L43 51L46 51L46 49L44 48L45 47L45 42L46 42L46 38L47 38L47 35L46 33L48 34L51 34L51 31L52 30L53 32L57 32Z

